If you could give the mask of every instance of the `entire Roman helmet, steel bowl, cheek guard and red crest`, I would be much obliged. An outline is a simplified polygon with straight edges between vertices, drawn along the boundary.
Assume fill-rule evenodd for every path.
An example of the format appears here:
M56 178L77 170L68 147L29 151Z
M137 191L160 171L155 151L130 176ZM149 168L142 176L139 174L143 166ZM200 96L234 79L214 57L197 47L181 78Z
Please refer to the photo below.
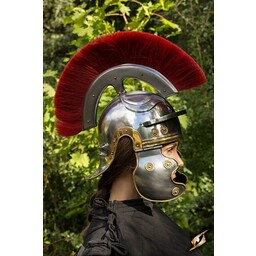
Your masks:
M157 93L127 93L126 78L144 81ZM81 48L65 67L55 94L56 128L60 135L72 136L97 126L100 96L113 86L117 97L98 121L100 165L90 178L108 170L119 139L128 136L137 158L133 177L138 193L151 201L170 201L185 191L187 179L177 172L175 159L162 155L161 147L179 139L178 116L185 111L175 112L166 98L205 82L199 65L162 37L134 31L102 36Z

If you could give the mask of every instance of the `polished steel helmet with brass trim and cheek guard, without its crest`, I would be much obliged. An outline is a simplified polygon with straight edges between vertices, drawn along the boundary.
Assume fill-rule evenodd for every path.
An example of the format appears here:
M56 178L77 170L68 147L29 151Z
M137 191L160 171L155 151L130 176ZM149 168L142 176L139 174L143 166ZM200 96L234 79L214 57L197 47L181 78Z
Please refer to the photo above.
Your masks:
M186 177L172 180L177 162L163 156L163 145L178 141L178 115L168 101L149 92L123 93L101 114L98 123L100 166L93 177L107 171L115 158L118 141L128 136L137 158L134 184L138 193L151 201L169 201L185 191ZM152 168L151 168L152 167Z

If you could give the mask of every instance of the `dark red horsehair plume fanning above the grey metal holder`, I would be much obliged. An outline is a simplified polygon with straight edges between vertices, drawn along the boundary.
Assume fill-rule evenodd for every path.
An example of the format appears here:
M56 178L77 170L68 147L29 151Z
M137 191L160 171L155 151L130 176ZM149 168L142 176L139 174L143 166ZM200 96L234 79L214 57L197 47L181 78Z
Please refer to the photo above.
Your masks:
M153 68L178 91L206 82L192 57L162 37L135 31L102 36L82 47L61 74L54 99L60 135L72 136L83 130L83 105L90 85L102 72L121 64Z

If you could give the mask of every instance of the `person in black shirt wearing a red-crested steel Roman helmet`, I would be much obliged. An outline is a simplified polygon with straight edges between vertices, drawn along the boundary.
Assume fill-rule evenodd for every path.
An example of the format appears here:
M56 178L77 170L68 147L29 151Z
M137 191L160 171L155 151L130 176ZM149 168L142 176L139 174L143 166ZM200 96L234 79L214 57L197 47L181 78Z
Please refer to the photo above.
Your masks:
M151 84L157 93L127 93L126 77ZM155 202L181 196L187 182L178 151L178 116L186 111L176 112L166 98L205 82L182 49L144 32L103 36L68 63L55 95L59 134L95 127L102 92L108 85L117 91L98 120L100 164L89 178L101 178L77 256L201 255L200 241L191 248L190 237Z

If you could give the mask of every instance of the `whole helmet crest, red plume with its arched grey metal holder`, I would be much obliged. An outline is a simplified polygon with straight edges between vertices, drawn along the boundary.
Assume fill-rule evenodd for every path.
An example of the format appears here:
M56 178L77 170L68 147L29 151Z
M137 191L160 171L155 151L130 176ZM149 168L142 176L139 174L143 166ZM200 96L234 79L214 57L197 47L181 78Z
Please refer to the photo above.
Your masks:
M123 80L136 78L166 98L206 82L200 66L180 47L150 33L122 31L82 47L63 70L54 97L56 128L76 135L97 125L100 96L108 85L125 93Z

